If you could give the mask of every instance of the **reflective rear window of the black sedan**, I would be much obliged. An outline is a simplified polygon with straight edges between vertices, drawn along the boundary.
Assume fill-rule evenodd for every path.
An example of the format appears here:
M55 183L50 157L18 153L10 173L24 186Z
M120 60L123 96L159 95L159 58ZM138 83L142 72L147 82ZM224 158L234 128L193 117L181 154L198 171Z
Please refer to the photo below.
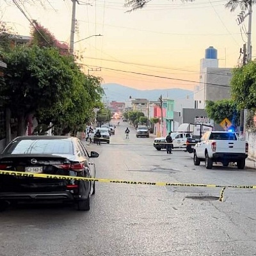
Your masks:
M2 154L73 154L70 140L15 140Z

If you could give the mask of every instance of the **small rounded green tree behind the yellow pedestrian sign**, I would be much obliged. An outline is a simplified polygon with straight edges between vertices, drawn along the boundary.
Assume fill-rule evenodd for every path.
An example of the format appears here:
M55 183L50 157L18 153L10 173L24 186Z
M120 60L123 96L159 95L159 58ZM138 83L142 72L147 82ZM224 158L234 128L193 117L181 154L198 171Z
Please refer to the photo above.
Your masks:
M220 124L224 118L228 118L233 125L239 125L240 112L233 100L207 100L205 110L209 118Z

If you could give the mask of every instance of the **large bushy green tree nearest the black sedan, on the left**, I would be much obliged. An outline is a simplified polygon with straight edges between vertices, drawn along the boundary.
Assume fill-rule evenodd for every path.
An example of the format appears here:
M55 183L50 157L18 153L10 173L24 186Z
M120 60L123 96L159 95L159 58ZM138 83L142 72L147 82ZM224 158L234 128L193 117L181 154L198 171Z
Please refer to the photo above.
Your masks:
M17 118L18 135L24 134L29 115L61 115L74 105L74 97L79 99L83 74L70 56L34 45L15 47L2 57L8 65L2 89L4 104Z

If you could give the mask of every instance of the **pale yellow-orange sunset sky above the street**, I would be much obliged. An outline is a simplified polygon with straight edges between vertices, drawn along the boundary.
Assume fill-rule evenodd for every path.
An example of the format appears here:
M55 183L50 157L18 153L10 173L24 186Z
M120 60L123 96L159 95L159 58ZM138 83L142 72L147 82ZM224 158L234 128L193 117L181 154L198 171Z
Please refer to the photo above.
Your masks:
M1 1L1 20L20 35L29 35L29 21L11 2ZM244 31L248 28L248 18L244 27L238 26L236 19L241 10L237 8L230 13L224 6L227 1L152 0L145 9L131 13L125 13L128 8L124 7L124 0L79 0L79 3L75 42L92 37L75 44L81 57L77 63L84 64L84 72L90 69L90 74L102 77L104 83L119 83L139 90L193 90L196 83L191 81L199 80L200 59L204 58L207 47L218 49L220 67L235 67L240 48L247 40ZM40 22L58 40L69 43L71 0L45 1L45 8L26 3L22 9L29 19ZM252 47L255 20L253 13ZM103 36L93 36L99 34ZM256 48L252 49L255 56ZM92 71L97 67L101 71Z

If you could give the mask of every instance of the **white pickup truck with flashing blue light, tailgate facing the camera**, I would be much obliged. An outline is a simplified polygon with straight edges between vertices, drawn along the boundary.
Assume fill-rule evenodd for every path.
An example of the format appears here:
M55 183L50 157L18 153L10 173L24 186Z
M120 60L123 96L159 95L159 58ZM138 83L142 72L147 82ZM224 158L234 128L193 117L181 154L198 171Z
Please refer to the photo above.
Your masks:
M237 163L238 169L244 169L248 157L248 143L238 140L236 132L209 131L205 132L194 148L194 164L205 161L207 169L212 163L220 162L223 166Z

